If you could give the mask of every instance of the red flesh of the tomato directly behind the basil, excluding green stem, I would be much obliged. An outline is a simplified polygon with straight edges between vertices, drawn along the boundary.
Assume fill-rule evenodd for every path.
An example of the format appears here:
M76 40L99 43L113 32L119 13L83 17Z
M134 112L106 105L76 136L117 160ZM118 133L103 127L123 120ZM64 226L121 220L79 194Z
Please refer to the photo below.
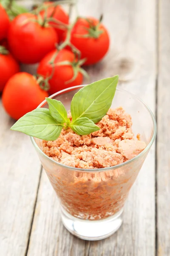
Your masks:
M54 56L55 53L56 53L56 50L48 53L42 59L37 69L37 73L39 75L42 75L45 78L51 75L52 66L51 64L49 64L49 61L51 60L51 58ZM74 53L67 49L60 50L54 60L54 64L57 64L62 61L70 61L71 63L73 63ZM70 81L67 83L67 81L73 78L74 69L77 69L78 71L77 76L74 79L74 81ZM50 89L48 90L48 92L50 94L53 94L59 90L82 84L82 79L83 79L83 76L82 76L82 73L79 72L78 64L74 64L74 67L67 64L62 66L55 65L53 76L49 80Z

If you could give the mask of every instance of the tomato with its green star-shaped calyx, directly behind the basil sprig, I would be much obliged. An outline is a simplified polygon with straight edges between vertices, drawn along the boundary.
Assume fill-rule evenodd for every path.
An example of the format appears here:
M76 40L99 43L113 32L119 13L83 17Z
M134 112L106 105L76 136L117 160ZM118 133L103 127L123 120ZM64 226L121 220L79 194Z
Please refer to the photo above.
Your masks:
M54 50L42 59L37 74L44 78L51 76L48 81L48 92L53 94L59 90L82 84L85 71L80 67L81 64L82 61L77 61L73 52L67 49Z

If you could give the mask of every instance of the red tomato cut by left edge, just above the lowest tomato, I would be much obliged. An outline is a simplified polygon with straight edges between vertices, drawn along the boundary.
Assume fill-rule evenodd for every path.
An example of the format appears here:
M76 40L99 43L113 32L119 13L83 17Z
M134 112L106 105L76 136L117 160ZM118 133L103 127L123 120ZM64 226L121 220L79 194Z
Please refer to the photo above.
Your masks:
M10 77L19 71L20 67L17 61L5 47L0 46L0 92L3 91Z

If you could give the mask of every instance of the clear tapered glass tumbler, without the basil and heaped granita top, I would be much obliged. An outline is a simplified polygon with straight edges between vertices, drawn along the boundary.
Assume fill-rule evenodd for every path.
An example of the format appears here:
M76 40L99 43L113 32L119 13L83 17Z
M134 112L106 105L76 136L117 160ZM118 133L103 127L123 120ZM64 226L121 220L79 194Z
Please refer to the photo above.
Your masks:
M71 99L82 85L53 94L69 111ZM64 226L85 240L111 236L122 224L122 212L139 170L156 137L156 121L150 109L135 95L116 89L111 108L122 106L132 116L133 133L139 133L146 148L136 157L117 166L79 169L54 161L42 152L42 140L31 137L48 179L60 200ZM44 101L39 108L48 108Z

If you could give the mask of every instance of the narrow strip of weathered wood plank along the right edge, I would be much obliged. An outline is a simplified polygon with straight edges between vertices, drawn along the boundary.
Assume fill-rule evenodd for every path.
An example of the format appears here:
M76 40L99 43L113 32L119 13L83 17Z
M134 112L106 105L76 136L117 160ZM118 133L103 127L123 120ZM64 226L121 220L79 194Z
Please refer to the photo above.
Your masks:
M170 255L170 1L159 1L157 135L158 255Z

